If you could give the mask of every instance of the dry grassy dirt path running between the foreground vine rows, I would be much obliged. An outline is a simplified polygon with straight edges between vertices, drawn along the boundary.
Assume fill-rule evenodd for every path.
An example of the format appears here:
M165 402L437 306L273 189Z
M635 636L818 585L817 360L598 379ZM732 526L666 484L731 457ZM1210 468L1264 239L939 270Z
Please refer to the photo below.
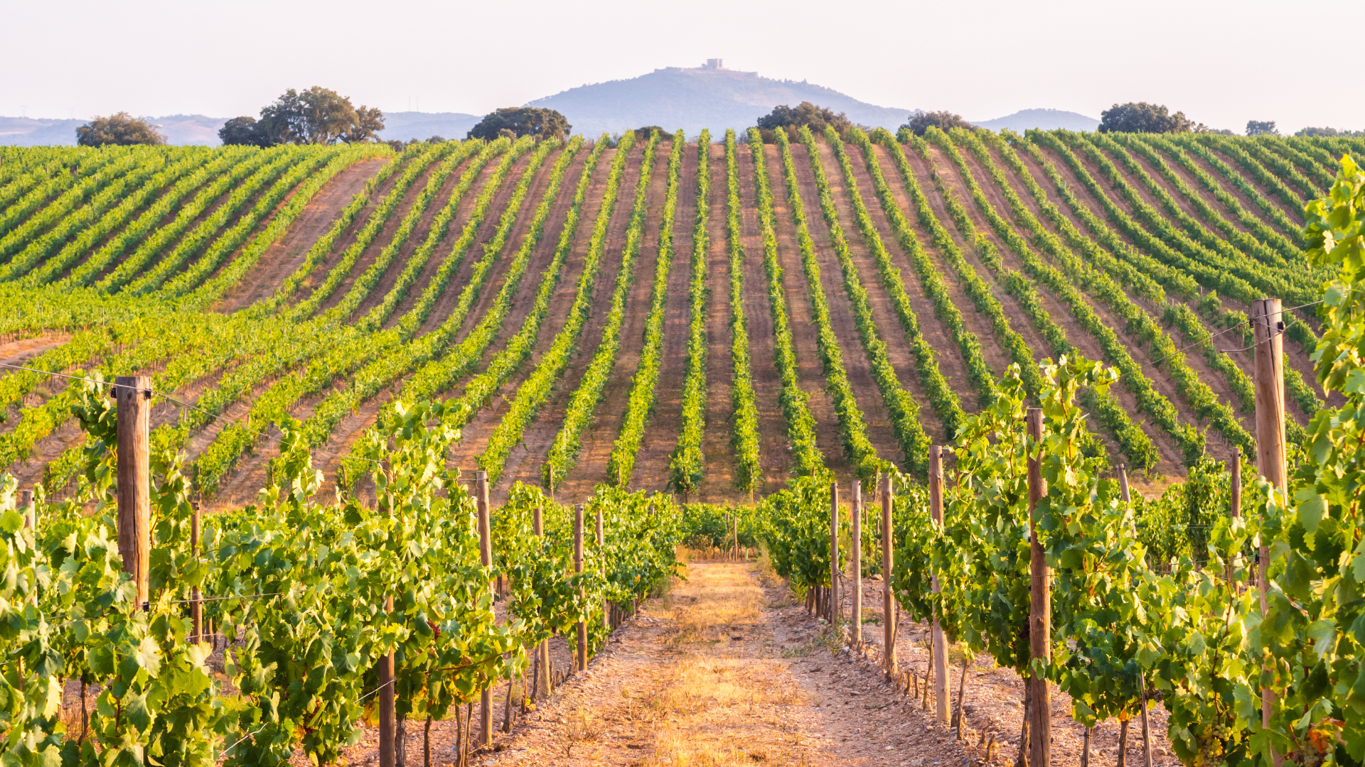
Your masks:
M471 764L681 766L999 766L1018 748L1024 682L981 654L966 666L964 730L935 722L934 703L887 684L879 667L880 583L863 588L867 650L850 650L839 632L812 618L785 584L756 562L691 562L665 596L613 635L607 646L524 715L513 707L504 733L506 688L494 696L490 749ZM845 600L848 609L848 600ZM901 626L900 667L923 674L928 626ZM568 648L551 641L557 670ZM951 707L957 706L962 654L949 647ZM519 685L520 682L517 682ZM520 686L515 686L520 691ZM1084 729L1069 717L1070 699L1052 688L1052 759L1080 763ZM1166 714L1151 712L1153 764L1174 763ZM410 763L422 759L420 723L407 726ZM431 764L457 757L452 719L433 722ZM994 745L988 747L987 742ZM1096 727L1092 763L1117 757L1118 725ZM1141 730L1127 738L1127 760L1141 759ZM375 764L377 730L366 727L347 751L351 764Z

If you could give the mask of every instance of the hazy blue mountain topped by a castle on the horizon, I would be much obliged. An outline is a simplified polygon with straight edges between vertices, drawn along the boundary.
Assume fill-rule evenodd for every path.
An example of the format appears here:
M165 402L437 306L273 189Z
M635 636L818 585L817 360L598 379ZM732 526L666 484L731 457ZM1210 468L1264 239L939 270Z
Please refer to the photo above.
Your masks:
M845 112L854 123L893 131L910 113L910 109L865 104L805 81L775 81L758 72L725 70L719 64L713 59L708 66L695 70L666 67L628 81L584 85L538 98L527 106L558 109L569 119L573 132L590 136L644 126L669 131L682 128L688 136L711 128L714 135L725 128L753 126L778 104L796 106L803 101Z

